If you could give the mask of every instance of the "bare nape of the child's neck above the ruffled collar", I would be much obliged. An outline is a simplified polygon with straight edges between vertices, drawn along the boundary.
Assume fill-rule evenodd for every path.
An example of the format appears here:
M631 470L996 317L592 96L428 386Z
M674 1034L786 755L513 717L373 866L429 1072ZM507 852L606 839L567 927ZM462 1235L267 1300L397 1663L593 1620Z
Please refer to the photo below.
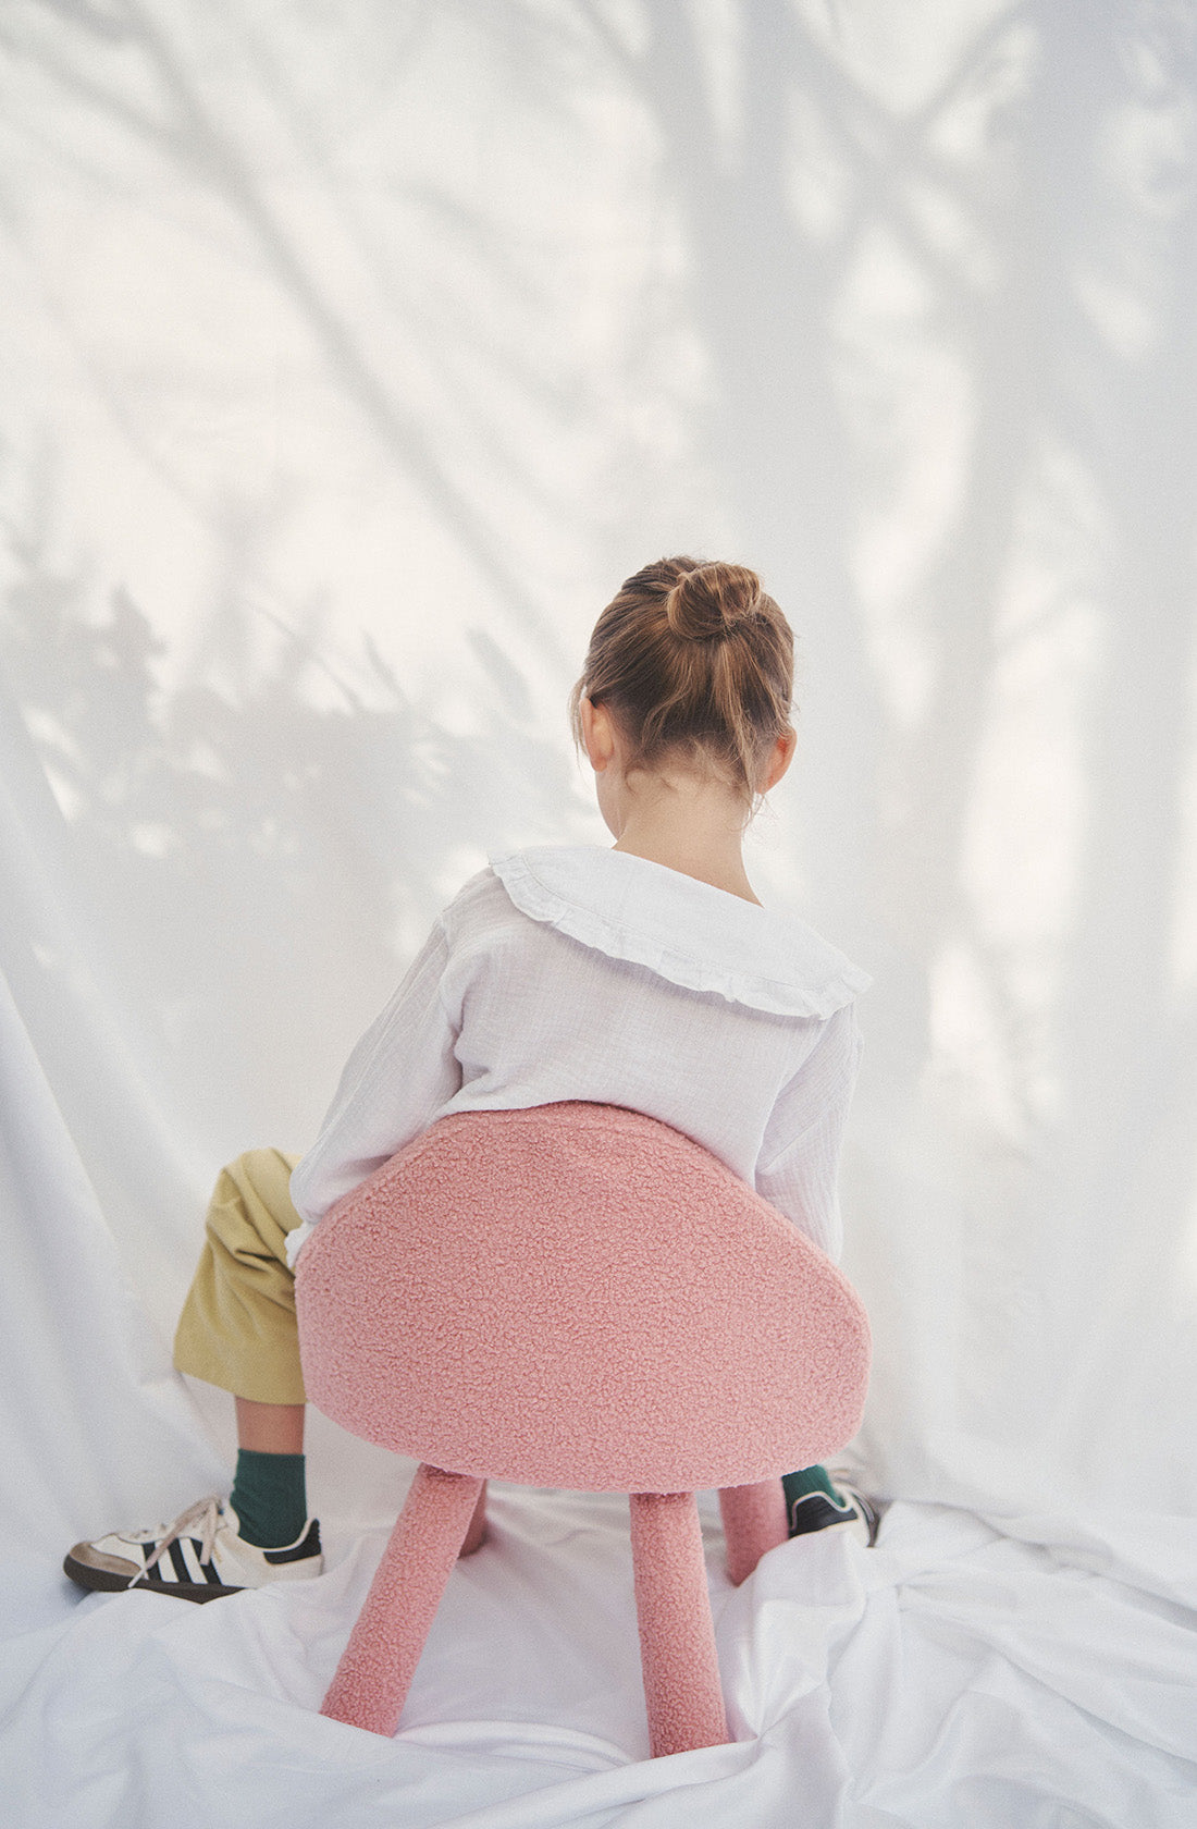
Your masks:
M760 905L744 869L744 807L718 781L654 779L627 794L616 850Z

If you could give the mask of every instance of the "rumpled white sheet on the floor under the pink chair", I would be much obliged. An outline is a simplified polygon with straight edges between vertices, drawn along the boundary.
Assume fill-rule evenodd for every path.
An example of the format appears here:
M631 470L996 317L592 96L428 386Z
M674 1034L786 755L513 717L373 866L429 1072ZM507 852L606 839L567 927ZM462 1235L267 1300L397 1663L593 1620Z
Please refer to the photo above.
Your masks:
M497 1489L393 1741L316 1712L380 1531L334 1533L322 1580L205 1608L69 1604L29 1564L4 1659L11 1820L1192 1824L1197 1589L1166 1525L1045 1531L897 1503L877 1549L788 1544L738 1591L713 1520L707 1540L736 1743L663 1761L647 1759L616 1496Z

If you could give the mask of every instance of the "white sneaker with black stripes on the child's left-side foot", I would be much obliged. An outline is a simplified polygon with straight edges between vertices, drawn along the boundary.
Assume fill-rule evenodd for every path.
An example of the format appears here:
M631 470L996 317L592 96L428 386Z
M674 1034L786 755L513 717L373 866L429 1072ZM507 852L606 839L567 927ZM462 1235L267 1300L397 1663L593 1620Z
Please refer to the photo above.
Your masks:
M181 1600L219 1600L245 1588L322 1575L320 1522L309 1518L303 1535L283 1549L258 1549L239 1536L239 1518L228 1500L201 1498L174 1524L75 1544L62 1567L80 1588L106 1593L146 1588Z

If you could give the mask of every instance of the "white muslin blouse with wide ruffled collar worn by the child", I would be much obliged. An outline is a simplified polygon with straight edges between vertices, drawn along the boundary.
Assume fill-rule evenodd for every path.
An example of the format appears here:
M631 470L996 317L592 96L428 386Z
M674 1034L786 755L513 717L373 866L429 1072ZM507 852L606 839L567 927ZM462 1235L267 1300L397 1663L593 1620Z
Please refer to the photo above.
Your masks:
M302 1225L450 1112L588 1099L683 1130L830 1257L868 977L804 922L590 845L492 858L353 1050Z

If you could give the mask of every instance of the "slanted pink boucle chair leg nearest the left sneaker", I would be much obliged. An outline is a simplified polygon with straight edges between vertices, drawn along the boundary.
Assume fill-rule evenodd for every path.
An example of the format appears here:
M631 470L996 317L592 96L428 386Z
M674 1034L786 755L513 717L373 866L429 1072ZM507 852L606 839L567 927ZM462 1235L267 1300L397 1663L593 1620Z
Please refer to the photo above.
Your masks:
M393 1734L482 1491L418 1467L320 1714Z

